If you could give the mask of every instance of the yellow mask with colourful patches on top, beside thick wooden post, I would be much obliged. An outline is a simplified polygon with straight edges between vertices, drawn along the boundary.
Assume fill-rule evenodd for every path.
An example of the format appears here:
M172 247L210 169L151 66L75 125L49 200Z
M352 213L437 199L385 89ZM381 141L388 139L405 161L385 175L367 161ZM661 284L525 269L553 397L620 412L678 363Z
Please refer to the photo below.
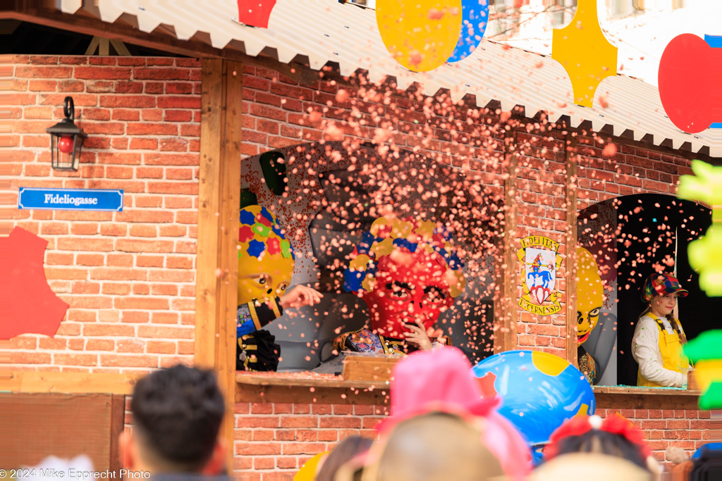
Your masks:
M238 304L282 296L291 282L295 256L291 243L268 209L240 210Z

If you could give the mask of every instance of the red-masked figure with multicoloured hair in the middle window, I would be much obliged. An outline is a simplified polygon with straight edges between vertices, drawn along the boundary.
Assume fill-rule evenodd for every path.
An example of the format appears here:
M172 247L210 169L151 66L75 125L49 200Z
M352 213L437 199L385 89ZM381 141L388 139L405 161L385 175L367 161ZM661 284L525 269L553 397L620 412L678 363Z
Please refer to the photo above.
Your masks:
M381 217L352 255L344 288L366 301L370 319L336 337L336 350L404 354L451 345L447 337L429 336L466 285L448 231L430 221Z

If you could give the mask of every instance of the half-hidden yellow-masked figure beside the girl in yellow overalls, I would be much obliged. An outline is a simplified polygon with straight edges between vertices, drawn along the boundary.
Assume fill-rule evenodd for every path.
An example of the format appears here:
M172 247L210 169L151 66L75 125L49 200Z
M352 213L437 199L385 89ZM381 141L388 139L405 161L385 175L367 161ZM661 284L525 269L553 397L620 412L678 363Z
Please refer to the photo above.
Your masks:
M584 373L589 384L595 384L601 377L597 372L599 363L582 346L599 322L599 313L604 301L603 286L599 276L599 267L591 252L577 247L577 336L579 346L577 359L579 370Z

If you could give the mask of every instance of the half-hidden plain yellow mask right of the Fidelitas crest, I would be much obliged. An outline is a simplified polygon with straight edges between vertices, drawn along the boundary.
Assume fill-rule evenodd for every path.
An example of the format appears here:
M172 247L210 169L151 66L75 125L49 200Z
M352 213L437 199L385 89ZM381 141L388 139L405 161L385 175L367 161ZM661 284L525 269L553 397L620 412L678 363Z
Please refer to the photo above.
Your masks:
M594 256L583 247L577 247L577 277L577 335L581 344L599 322L604 301L599 266Z

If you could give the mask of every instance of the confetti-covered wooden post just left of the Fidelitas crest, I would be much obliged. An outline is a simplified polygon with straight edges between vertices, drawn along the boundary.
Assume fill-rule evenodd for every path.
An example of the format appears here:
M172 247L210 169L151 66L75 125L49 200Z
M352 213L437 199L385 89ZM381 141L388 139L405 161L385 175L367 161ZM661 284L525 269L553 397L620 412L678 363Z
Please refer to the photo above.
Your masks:
M494 306L494 352L516 349L518 336L516 295L518 260L516 257L516 132L504 130L504 232L500 243L501 259L495 263L498 302Z

